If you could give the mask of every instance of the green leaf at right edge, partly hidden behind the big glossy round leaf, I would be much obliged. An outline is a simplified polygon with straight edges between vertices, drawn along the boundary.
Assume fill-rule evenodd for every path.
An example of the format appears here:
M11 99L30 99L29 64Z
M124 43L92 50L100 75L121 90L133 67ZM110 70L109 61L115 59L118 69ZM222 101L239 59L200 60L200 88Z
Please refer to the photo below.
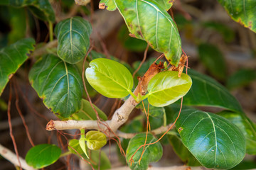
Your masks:
M246 153L256 154L256 125L246 115L231 111L222 111L218 115L223 116L234 123L243 133L246 140Z

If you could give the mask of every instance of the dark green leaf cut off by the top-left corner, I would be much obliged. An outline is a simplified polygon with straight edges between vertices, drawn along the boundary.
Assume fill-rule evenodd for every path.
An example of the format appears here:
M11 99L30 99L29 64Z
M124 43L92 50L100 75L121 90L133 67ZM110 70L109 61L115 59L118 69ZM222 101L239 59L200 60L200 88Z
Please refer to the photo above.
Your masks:
M9 5L14 7L26 7L43 21L55 21L55 13L48 0L1 0L0 5Z

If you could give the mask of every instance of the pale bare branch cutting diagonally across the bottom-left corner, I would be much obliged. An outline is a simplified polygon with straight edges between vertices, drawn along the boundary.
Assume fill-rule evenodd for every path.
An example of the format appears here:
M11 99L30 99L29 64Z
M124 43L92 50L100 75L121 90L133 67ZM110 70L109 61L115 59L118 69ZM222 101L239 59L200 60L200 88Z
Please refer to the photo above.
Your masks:
M0 145L0 155L5 159L9 160L11 164L14 164L15 166L19 166L16 154L11 152L11 150L7 149L3 145ZM19 160L21 162L22 169L33 170L33 168L29 166L23 158L20 157Z

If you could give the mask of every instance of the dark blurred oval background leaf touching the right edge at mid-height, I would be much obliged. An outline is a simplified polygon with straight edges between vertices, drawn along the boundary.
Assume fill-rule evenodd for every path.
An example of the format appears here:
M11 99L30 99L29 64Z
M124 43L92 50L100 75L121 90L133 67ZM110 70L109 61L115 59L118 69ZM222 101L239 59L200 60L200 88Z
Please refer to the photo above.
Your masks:
M235 89L240 86L246 86L250 82L256 80L256 70L253 69L240 69L235 74L228 77L228 89Z

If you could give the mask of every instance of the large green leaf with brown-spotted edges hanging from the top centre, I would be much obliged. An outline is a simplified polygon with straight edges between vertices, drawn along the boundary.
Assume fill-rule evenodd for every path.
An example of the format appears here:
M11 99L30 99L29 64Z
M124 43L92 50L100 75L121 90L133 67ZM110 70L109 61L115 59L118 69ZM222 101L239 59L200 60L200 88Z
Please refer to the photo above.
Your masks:
M113 11L118 8L129 32L136 38L145 40L158 52L163 52L166 59L178 65L181 57L181 38L173 19L165 10L171 1L154 0L102 0Z

